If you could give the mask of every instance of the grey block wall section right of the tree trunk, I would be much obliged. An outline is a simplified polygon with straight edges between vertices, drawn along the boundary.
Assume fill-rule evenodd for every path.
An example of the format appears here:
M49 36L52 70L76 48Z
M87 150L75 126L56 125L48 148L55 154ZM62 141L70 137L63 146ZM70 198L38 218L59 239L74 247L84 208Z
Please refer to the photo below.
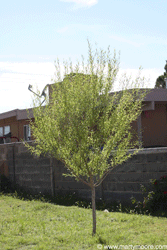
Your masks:
M128 203L131 196L142 199L140 184L148 186L150 179L167 175L167 147L143 149L118 166L103 183L105 199Z

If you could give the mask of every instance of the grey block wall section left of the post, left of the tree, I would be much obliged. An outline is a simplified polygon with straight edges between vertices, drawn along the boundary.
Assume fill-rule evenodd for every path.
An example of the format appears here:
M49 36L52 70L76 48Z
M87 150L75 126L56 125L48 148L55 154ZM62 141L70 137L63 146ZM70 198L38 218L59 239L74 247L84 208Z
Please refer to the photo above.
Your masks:
M17 184L32 193L51 193L49 158L33 157L20 142L1 144L1 173L7 172L6 166L7 176L13 185Z

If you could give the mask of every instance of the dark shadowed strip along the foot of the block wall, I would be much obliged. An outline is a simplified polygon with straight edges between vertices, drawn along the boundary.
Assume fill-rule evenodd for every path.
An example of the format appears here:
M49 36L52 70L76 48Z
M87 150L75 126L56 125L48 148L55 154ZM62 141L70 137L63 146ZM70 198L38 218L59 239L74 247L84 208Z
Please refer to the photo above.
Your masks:
M9 179L5 176L1 176L0 195L7 195L21 200L38 200L63 206L77 206L88 209L92 208L91 201L81 198L77 192L63 192L63 190L60 190L54 197L49 194L32 194L30 190L25 190L23 187L18 185L13 186ZM141 205L141 202L139 203ZM101 211L107 209L109 212L167 217L167 211L157 210L151 212L149 210L141 209L141 206L138 204L125 206L118 202L106 202L102 199L96 201L96 209Z

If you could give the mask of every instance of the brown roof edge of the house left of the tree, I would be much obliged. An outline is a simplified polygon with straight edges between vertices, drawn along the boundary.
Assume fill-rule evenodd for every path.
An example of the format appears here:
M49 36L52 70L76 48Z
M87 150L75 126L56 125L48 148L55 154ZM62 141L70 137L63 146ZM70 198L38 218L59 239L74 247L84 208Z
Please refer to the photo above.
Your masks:
M28 113L27 113L28 111ZM32 108L30 109L14 109L8 112L4 112L0 114L0 120L10 118L16 116L17 120L24 120L24 119L29 119L29 118L34 118L33 116L33 110Z

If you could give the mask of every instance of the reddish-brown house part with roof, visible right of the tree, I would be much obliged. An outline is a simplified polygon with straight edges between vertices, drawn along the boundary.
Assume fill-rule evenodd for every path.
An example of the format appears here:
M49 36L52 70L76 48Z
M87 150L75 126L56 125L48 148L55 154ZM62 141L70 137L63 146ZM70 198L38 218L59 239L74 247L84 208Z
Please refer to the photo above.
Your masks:
M143 147L167 147L167 89L150 89L138 119Z

